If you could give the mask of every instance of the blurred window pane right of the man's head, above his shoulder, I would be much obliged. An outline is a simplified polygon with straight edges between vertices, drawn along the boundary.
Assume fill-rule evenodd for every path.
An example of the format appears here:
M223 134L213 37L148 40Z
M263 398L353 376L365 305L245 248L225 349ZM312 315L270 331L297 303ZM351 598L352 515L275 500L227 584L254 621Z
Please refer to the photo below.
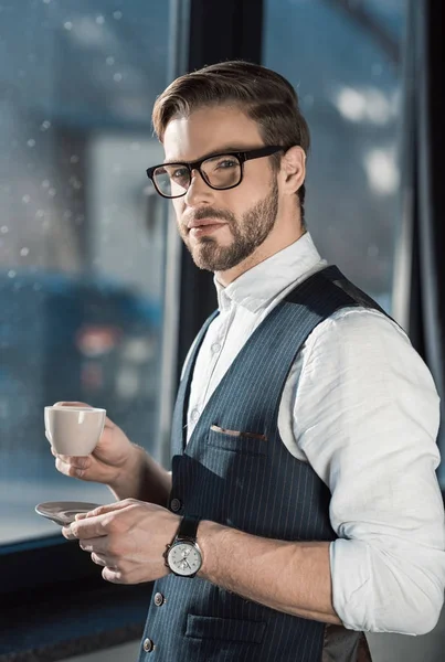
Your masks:
M267 0L264 64L300 97L306 220L324 257L391 311L404 0Z

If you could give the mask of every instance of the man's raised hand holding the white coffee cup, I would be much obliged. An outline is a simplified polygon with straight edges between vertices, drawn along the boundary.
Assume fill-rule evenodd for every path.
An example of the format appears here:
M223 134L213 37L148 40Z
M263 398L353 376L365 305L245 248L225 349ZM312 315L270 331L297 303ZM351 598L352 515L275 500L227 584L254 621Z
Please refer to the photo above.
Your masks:
M57 403L57 406L88 407L89 405L70 402ZM137 447L108 417L105 419L100 439L89 456L57 455L53 447L51 452L55 457L55 468L61 473L110 487L117 484L124 473L133 470L138 453Z

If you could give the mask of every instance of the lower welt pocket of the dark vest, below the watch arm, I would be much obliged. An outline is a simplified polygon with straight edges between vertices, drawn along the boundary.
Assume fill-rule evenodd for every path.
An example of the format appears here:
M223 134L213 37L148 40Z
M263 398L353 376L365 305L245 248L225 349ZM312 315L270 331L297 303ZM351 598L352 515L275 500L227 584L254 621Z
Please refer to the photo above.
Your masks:
M214 616L187 616L186 637L213 639L240 643L261 643L266 631L264 621L218 618Z

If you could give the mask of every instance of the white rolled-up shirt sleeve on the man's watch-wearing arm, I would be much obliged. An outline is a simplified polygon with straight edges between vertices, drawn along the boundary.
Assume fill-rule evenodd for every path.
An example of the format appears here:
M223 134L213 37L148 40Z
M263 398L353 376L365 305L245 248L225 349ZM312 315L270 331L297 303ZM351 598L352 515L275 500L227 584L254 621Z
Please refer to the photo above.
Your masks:
M305 352L294 434L331 491L333 608L352 630L424 634L445 588L431 373L391 320L364 309L325 321Z

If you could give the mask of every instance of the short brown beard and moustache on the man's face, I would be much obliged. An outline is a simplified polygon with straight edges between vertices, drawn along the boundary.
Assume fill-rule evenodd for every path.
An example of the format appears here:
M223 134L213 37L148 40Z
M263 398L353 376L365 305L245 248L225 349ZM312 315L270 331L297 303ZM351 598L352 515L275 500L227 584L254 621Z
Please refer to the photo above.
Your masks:
M226 210L202 211L203 218L212 216L227 223L233 236L230 246L220 246L212 236L201 237L193 246L187 229L180 232L197 267L209 271L226 271L250 257L263 244L275 225L277 213L278 184L274 179L268 195L244 212L241 220ZM200 220L199 213L194 217Z

